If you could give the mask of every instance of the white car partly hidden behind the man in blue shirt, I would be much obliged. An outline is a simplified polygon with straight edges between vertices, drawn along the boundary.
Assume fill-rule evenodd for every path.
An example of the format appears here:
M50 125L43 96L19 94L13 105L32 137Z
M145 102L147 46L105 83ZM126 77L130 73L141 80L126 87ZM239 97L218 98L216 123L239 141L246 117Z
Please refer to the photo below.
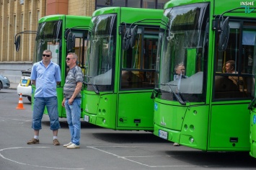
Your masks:
M27 99L31 102L31 81L30 81L31 69L27 69L22 71L22 76L19 81L19 85L17 86L17 93L22 97L27 97Z

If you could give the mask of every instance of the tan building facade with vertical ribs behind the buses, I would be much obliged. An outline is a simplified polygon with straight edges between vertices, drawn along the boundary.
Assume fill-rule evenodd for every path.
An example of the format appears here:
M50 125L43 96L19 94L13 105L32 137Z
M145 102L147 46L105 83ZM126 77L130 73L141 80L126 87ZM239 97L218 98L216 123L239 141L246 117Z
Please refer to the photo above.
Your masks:
M37 21L51 14L92 16L106 6L163 9L168 0L0 0L0 74L15 88L21 71L32 67ZM21 35L19 51L15 39Z

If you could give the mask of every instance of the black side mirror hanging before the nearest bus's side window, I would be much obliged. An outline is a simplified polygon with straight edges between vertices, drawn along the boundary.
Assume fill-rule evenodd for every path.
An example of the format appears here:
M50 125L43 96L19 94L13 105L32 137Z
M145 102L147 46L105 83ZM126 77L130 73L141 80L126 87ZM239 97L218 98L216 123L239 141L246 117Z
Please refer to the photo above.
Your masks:
M219 34L219 45L218 45L218 50L219 51L224 51L226 50L226 46L228 45L229 42L229 17L226 17L224 22L221 25L221 33Z

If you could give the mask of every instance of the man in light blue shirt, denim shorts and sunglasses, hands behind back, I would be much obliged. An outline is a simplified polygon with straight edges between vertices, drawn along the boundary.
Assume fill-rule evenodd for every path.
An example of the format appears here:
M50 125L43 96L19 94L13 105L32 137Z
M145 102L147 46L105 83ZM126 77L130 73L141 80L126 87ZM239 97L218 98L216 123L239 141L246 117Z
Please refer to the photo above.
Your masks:
M39 130L45 107L50 117L50 130L53 130L53 145L59 146L58 129L61 128L58 121L58 100L56 86L61 82L61 69L50 61L52 53L50 50L43 51L43 60L32 66L30 79L35 84L35 100L32 115L32 129L34 138L27 144L39 143Z

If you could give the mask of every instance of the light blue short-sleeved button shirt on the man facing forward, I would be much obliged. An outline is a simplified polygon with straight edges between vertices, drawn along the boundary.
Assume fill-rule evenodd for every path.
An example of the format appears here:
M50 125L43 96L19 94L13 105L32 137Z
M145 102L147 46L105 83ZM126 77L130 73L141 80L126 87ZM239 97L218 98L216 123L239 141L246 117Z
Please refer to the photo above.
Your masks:
M43 61L34 63L30 79L36 81L35 97L56 97L57 81L61 81L60 66L52 61L47 68Z

